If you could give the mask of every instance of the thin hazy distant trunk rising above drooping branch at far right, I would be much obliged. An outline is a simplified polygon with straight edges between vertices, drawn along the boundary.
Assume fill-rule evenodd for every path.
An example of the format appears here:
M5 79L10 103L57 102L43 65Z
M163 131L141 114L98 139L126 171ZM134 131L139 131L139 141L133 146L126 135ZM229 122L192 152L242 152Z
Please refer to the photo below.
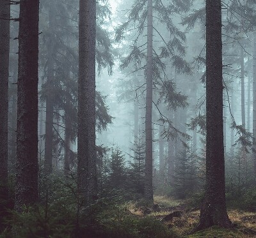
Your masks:
M244 49L240 47L240 64L241 64L241 117L242 126L245 128L245 107L244 107Z

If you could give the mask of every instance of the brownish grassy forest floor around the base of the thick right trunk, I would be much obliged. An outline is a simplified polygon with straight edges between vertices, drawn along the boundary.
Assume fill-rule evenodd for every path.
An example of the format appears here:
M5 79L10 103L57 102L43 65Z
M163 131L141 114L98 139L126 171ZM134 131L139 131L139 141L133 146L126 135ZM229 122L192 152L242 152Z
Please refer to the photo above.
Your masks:
M230 209L228 210L228 216L234 224L233 229L212 227L196 232L193 235L188 235L198 224L199 210L188 209L188 205L184 201L161 196L154 197L154 203L155 205L152 208L140 204L129 204L128 209L137 216L154 216L154 218L168 225L180 237L256 237L256 212Z

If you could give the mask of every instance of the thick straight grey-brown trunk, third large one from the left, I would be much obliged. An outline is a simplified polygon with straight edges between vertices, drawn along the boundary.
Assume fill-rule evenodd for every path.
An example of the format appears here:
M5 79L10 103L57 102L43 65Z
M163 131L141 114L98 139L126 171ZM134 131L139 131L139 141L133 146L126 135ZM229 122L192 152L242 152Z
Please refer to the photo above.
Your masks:
M77 124L78 188L86 202L97 198L95 151L96 1L79 1L79 79Z

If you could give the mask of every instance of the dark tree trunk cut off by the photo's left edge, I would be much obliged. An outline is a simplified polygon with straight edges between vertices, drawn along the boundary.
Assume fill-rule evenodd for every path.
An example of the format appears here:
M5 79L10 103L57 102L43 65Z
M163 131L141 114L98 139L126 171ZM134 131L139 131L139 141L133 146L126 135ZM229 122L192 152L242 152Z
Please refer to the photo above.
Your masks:
M0 0L0 222L8 200L8 79L10 3ZM5 20L4 20L5 19ZM4 202L3 202L4 201Z

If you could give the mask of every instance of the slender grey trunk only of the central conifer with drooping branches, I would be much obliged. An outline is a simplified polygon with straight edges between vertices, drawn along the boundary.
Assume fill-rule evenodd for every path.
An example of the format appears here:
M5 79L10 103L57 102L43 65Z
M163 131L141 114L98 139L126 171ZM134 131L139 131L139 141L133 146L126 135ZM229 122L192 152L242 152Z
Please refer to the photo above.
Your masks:
M147 5L147 95L146 95L146 115L145 115L145 140L146 140L146 160L145 160L145 199L153 201L153 154L152 154L152 94L153 94L153 6L152 0L148 0Z

